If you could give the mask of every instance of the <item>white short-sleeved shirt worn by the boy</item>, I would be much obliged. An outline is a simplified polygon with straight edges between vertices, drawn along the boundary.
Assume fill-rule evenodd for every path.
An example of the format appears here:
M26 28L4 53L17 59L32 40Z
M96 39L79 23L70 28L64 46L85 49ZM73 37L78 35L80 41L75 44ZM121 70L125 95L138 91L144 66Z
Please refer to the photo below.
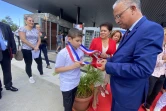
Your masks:
M84 56L83 51L78 48L76 50L76 52L77 52L78 56L82 59ZM73 54L73 52L72 52L72 54ZM73 54L73 57L76 60L76 57L74 54ZM72 64L74 64L74 62L71 60L67 49L66 48L62 49L57 55L56 62L55 62L55 68L70 66ZM76 68L76 69L73 69L70 71L59 73L60 90L61 91L70 91L73 88L77 87L80 82L80 75L81 75L80 68Z

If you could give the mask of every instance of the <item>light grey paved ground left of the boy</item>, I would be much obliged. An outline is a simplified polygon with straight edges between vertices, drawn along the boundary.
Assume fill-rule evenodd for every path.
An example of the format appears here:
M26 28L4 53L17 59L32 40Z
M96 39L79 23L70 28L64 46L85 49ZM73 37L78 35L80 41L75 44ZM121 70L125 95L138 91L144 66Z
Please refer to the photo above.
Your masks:
M48 55L52 60L55 59L55 53ZM50 64L53 68L54 63ZM36 83L30 84L24 67L24 61L12 61L13 84L19 91L11 92L3 89L0 111L63 111L59 76L52 75L54 68L45 68L46 64L43 61L45 75L40 76L36 63L33 61L32 72ZM3 78L1 68L0 77Z

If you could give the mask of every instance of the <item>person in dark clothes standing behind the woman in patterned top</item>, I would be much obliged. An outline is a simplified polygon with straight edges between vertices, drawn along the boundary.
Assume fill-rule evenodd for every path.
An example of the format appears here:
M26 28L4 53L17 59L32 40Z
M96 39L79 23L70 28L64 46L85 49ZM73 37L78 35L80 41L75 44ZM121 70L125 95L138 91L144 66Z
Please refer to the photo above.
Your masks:
M40 54L41 54L41 51L43 52L44 54L44 58L45 58L45 61L46 61L46 68L48 69L51 69L51 66L50 66L50 63L49 63L49 60L48 60L48 53L47 53L47 36L46 36L46 33L44 32L41 32L41 28L40 28L40 25L39 24L36 24L36 29L39 31L39 35L40 35L40 38L41 38L41 44L39 46L39 49L40 49Z

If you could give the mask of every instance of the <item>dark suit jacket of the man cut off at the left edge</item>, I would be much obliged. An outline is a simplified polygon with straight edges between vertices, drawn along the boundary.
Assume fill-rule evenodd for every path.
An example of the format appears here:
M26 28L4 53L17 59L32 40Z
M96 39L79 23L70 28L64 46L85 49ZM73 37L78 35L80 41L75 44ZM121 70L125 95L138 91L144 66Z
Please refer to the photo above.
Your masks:
M15 43L14 35L12 33L10 26L5 23L0 22L0 28L2 30L2 34L5 38L5 40L8 41L7 49L9 51L10 55L12 56L12 54L16 54L16 51L17 51L16 43Z

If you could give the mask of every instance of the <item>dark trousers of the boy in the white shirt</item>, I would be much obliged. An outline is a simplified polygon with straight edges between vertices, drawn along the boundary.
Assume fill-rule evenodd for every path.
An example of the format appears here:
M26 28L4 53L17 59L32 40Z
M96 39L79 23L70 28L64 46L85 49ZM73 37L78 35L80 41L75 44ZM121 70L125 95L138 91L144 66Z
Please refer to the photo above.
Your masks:
M72 111L77 87L70 91L62 91L64 111Z

